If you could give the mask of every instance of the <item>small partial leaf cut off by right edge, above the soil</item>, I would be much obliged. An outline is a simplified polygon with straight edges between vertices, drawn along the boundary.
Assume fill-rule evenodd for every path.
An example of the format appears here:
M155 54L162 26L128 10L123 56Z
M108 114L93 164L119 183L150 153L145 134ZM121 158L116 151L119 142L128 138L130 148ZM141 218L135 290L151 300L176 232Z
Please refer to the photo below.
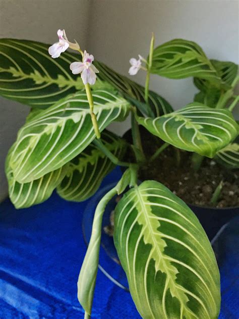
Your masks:
M228 144L216 153L214 159L228 169L239 169L239 144Z

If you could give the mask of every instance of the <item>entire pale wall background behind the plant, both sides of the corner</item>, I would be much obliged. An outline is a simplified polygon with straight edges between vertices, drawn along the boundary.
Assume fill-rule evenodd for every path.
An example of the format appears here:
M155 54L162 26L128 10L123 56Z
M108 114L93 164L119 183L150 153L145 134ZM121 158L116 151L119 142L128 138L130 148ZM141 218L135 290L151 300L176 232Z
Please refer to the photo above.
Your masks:
M129 59L147 57L151 32L156 45L176 37L198 42L209 58L238 62L238 2L197 0L0 0L0 37L53 43L58 28L80 40L96 59L128 74ZM134 79L144 83L141 71ZM191 79L152 76L150 88L174 108L191 102ZM7 194L4 161L28 107L0 98L0 200ZM125 124L111 127L117 132Z

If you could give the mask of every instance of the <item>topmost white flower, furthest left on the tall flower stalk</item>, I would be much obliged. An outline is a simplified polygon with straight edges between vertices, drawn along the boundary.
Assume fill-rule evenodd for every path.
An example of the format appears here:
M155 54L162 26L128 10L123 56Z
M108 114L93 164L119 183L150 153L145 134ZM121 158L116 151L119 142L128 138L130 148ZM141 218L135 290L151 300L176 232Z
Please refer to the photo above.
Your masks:
M51 45L48 49L48 52L51 58L53 59L59 58L59 56L61 56L61 53L65 52L69 47L74 50L78 50L80 48L76 40L75 40L76 43L72 43L68 41L65 30L59 29L57 31L57 35L58 35L59 41Z

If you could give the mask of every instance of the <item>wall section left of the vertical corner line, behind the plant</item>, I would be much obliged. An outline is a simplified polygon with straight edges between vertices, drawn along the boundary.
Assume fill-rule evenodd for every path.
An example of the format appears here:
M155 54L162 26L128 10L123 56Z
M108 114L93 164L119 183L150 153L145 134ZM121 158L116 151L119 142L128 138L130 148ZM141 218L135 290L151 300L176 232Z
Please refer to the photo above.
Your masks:
M88 0L0 0L0 38L54 43L57 30L65 28L69 39L85 46L89 7ZM29 107L0 97L0 201L7 195L5 157L28 112Z

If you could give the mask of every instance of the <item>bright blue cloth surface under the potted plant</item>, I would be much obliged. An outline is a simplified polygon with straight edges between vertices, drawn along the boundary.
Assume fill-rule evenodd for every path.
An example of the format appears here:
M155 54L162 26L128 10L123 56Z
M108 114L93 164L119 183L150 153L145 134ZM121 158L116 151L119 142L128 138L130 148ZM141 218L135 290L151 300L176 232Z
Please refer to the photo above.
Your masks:
M116 168L101 187L118 180ZM91 199L89 199L91 200ZM83 318L77 279L86 252L82 215L89 200L67 202L53 193L46 202L16 210L9 199L0 206L0 318ZM239 219L220 236L222 304L220 319L239 317ZM100 260L101 265L104 260ZM111 269L115 278L119 267ZM237 280L237 281L236 281ZM98 271L92 317L140 318L130 294Z

